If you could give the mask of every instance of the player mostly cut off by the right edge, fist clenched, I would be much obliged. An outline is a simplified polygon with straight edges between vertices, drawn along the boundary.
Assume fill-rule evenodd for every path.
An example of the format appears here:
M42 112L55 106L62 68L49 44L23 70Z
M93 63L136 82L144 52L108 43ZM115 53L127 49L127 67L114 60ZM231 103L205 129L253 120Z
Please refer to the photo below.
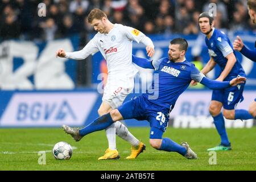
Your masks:
M256 24L256 0L248 0L248 13L250 15L251 21ZM247 49L240 36L237 36L237 39L233 42L234 50L240 51L244 56L248 57L250 60L256 62L256 50ZM256 47L256 42L255 42ZM256 98L249 107L249 113L256 119Z

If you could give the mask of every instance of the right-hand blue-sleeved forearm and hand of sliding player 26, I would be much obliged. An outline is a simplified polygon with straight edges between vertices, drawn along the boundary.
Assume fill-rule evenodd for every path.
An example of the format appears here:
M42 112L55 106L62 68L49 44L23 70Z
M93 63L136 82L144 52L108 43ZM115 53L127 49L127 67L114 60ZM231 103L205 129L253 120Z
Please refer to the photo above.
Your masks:
M216 81L216 80L210 80L207 77L203 77L200 83L207 86L209 89L216 90L216 89L225 89L230 86L236 86L238 84L245 82L245 80L246 80L245 77L237 77L237 78L233 78L233 80L231 81Z

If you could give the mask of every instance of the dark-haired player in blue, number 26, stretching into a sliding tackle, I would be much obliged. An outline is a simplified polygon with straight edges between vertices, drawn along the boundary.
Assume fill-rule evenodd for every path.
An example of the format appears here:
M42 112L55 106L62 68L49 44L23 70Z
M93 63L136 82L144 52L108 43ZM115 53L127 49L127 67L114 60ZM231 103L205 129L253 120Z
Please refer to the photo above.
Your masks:
M83 129L78 130L63 125L64 131L71 134L75 140L80 140L85 135L103 130L120 119L146 119L150 123L150 144L152 147L156 150L178 152L188 159L196 159L197 155L191 150L187 142L180 145L170 138L163 138L163 133L168 125L168 115L174 108L177 98L188 88L191 80L196 80L210 89L224 89L241 84L245 81L245 77L237 77L232 81L224 82L210 80L200 73L195 65L185 59L187 48L187 41L177 38L170 43L169 57L150 61L133 56L135 64L158 71L159 80L152 84L155 93L147 92L127 101L110 113L95 119Z

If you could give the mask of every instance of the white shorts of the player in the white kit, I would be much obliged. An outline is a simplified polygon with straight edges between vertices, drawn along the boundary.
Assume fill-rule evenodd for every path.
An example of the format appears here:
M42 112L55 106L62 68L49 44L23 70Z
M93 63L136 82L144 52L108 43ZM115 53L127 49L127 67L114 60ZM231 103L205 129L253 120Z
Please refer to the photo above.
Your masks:
M123 104L126 96L133 92L134 77L109 79L104 88L102 101L116 109Z

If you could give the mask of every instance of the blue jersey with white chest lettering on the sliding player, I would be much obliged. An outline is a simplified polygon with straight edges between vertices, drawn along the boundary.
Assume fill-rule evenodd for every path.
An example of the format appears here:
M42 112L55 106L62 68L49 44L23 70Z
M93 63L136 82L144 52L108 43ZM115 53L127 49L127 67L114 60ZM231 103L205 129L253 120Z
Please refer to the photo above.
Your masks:
M172 109L177 98L188 88L191 80L200 82L204 75L194 64L184 60L173 63L167 57L153 60L152 65L158 71L158 79L152 83L144 97L156 105Z

